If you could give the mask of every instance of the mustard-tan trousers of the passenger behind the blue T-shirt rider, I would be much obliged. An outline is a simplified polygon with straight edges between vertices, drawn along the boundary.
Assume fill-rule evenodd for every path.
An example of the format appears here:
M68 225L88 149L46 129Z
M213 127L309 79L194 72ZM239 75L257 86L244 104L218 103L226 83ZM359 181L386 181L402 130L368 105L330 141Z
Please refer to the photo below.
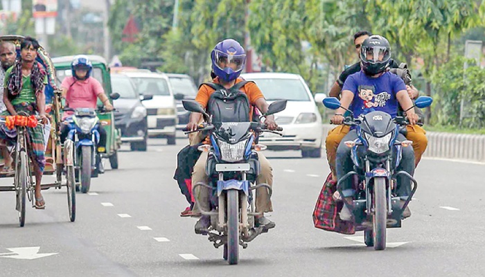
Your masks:
M328 136L325 140L326 153L328 159L328 165L332 171L332 179L337 181L337 175L335 173L335 157L337 154L337 148L344 139L344 136L349 133L351 127L348 125L339 125L328 132ZM407 136L406 139L412 141L412 147L414 149L414 161L415 165L418 166L421 156L427 147L426 131L418 125L407 125Z

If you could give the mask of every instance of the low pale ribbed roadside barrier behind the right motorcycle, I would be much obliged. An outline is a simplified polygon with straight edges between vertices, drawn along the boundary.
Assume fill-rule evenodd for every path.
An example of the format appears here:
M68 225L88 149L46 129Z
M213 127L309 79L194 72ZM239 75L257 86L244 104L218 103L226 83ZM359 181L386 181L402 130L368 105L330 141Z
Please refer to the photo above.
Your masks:
M324 139L335 125L322 125ZM426 132L427 148L423 157L457 159L485 163L485 135Z

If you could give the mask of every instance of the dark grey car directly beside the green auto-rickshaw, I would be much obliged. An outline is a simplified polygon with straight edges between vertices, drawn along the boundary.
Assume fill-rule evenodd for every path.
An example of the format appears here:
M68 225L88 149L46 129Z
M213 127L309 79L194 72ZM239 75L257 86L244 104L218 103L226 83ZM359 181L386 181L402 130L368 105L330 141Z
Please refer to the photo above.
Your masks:
M152 95L139 96L127 75L111 74L111 86L120 97L114 100L114 124L121 130L121 141L130 143L132 151L146 151L148 140L148 119L141 101L150 100Z

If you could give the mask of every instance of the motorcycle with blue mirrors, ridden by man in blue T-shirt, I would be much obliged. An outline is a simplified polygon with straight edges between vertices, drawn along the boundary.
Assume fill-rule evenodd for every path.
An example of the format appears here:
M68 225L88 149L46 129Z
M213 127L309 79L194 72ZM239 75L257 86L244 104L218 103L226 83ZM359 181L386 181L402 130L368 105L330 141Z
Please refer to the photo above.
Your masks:
M335 97L325 98L323 102L329 109L342 107ZM432 98L421 96L414 105L425 108L431 103ZM352 148L354 170L337 181L337 191L343 195L342 182L352 177L356 192L351 203L340 195L336 197L342 198L344 205L353 212L355 231L364 231L365 244L376 250L383 250L386 247L386 229L401 227L403 211L418 188L416 179L407 172L396 172L403 148L412 145L412 141L397 140L399 133L405 134L405 126L409 122L405 116L396 116L393 119L382 111L370 111L354 118L352 111L346 110L351 116L345 118L344 124L355 126L358 139L343 142ZM396 196L396 177L399 175L407 176L413 184L403 206L400 205L400 197Z

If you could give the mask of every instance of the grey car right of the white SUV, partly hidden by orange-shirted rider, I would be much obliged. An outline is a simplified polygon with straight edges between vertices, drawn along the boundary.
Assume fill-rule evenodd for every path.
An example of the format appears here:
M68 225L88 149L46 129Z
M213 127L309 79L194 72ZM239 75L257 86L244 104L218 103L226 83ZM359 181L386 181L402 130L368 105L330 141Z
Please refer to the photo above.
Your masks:
M179 118L177 129L183 129L188 123L188 118L191 116L191 112L184 109L182 100L195 99L195 96L197 95L197 87L195 86L192 77L189 75L168 73L167 76L168 80L170 80L175 103L177 105L177 117Z

